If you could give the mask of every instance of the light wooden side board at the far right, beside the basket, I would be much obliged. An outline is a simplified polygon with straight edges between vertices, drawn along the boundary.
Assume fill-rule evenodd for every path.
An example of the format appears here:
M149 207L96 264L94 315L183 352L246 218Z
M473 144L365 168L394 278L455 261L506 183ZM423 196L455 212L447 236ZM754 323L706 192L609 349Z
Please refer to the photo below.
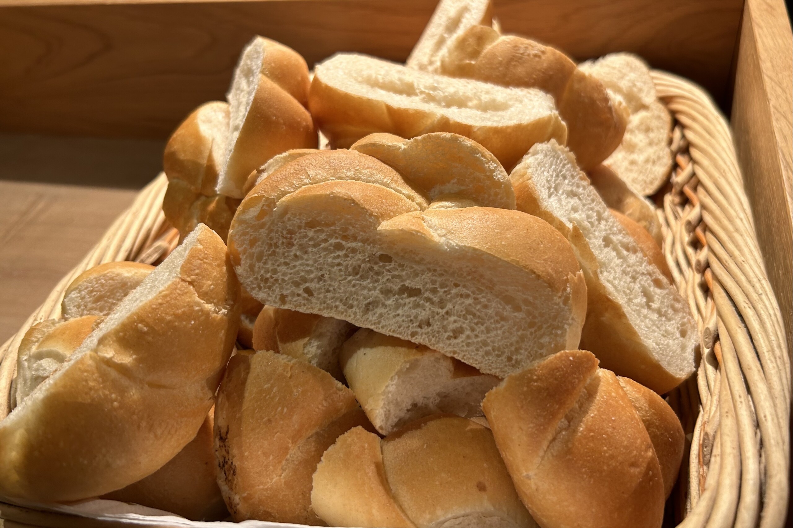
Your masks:
M768 276L793 350L793 34L782 0L747 0L732 125Z

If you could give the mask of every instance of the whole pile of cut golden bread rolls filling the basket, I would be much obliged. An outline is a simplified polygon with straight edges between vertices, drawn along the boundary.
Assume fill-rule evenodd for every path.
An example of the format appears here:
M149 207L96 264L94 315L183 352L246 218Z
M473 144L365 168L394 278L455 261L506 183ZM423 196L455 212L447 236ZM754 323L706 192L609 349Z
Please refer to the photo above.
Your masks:
M256 37L164 154L182 242L22 341L0 495L193 520L659 527L695 324L645 63L442 0L405 65ZM320 145L323 148L320 148Z

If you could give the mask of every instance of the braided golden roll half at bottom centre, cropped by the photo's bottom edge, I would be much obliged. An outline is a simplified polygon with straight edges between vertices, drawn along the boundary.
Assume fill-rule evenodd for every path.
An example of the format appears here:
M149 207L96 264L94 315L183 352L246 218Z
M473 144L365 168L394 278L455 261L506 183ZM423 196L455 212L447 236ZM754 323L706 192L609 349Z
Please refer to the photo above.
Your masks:
M382 441L361 429L339 437L314 473L312 507L331 526L537 526L490 430L437 414Z

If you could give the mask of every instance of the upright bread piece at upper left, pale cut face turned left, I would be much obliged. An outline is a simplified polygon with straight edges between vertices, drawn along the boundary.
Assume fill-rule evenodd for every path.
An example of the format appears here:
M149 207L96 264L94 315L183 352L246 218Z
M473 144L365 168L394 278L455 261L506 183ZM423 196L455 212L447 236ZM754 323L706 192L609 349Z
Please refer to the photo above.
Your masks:
M248 175L290 148L316 148L308 67L291 48L254 37L243 49L226 94L228 142L217 192L243 198Z

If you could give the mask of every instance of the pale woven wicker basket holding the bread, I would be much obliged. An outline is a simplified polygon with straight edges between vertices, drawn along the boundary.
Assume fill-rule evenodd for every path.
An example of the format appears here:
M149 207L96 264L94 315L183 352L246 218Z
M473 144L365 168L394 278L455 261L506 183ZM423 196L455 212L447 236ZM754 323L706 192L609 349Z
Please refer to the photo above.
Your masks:
M695 376L668 401L689 442L669 526L783 526L787 511L791 369L783 323L757 245L730 128L699 87L653 71L676 118L676 167L657 202L664 252L699 326ZM151 182L102 241L0 349L0 417L10 410L17 348L34 323L60 316L68 283L112 260L157 263L178 241L161 211L164 175ZM684 459L686 460L686 459ZM117 526L112 515L80 518L0 503L0 516L36 526ZM162 526L157 518L136 524ZM9 523L6 523L9 526ZM273 525L268 525L273 526Z

